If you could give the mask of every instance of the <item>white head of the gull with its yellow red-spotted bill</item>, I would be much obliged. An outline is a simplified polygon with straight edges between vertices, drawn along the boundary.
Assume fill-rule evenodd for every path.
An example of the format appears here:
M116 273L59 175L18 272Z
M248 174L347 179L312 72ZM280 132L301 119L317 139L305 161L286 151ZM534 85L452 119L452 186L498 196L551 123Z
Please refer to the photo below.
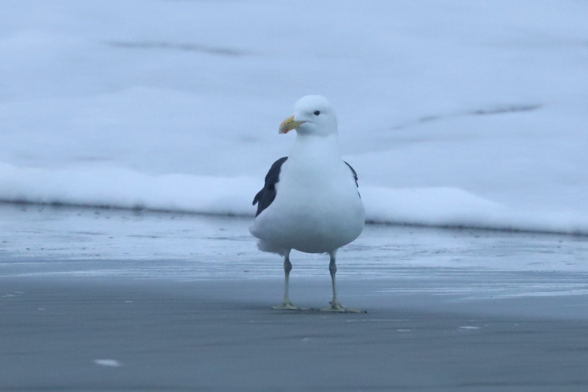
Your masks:
M280 124L279 133L287 133L292 129L302 135L335 135L335 110L322 95L303 96L294 104L294 115Z

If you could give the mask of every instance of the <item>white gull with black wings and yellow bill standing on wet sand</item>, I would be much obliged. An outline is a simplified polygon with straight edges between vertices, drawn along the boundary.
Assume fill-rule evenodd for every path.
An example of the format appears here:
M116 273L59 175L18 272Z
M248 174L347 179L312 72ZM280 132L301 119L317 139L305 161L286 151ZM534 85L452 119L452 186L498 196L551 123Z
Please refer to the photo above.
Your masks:
M341 306L337 298L337 250L362 232L365 210L358 176L341 159L335 111L323 96L304 96L295 103L294 115L280 124L280 134L290 130L296 130L295 142L265 176L253 199L257 213L249 227L259 239L259 250L284 257L284 300L272 309L305 309L292 304L288 295L290 251L296 249L330 255L333 300L320 310L362 312Z

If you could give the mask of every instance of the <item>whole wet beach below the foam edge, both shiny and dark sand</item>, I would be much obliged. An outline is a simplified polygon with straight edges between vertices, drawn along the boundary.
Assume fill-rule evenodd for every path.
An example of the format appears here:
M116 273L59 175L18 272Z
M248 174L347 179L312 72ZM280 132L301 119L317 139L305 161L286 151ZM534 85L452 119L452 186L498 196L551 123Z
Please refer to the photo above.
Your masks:
M585 391L582 236L366 227L273 311L248 219L0 205L0 389ZM329 300L295 253L291 297Z

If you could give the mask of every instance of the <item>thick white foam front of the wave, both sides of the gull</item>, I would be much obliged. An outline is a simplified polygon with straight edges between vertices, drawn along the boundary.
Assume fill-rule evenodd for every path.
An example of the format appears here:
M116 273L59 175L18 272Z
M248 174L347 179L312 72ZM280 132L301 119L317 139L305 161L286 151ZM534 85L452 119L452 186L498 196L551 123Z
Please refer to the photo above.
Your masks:
M0 164L0 200L253 216L255 177L150 176L123 169L19 169ZM368 223L588 233L588 220L521 212L462 189L361 189Z

